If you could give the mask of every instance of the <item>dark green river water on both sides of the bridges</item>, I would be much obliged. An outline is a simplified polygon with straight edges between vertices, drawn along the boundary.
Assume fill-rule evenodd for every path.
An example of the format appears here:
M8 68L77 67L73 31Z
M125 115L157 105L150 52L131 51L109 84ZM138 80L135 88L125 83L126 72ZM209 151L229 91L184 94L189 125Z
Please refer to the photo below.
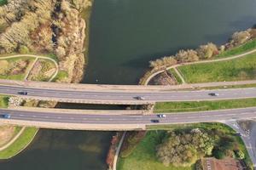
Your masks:
M224 43L256 24L256 0L95 0L84 83L137 84L148 61ZM104 170L113 133L40 130L1 170Z

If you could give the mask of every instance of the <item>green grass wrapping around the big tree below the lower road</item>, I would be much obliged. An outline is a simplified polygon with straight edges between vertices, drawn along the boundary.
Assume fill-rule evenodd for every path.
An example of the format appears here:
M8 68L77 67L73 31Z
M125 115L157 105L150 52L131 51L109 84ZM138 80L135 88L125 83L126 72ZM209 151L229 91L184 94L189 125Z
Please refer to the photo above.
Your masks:
M186 124L186 125L160 125L160 126L149 126L147 127L150 130L146 137L137 144L137 147L130 156L125 158L119 158L118 169L119 170L194 170L195 165L191 167L165 167L160 161L157 160L155 156L155 147L160 144L161 139L163 138L163 133L165 130L171 129L189 129L189 128L203 128L203 129L212 129L216 128L219 131L226 133L227 136L230 136L236 139L238 143L238 148L245 153L245 162L248 166L252 167L252 162L247 154L245 145L243 144L240 137L235 136L236 133L232 128L225 126L222 123L195 123L195 124ZM158 130L158 131L155 131Z

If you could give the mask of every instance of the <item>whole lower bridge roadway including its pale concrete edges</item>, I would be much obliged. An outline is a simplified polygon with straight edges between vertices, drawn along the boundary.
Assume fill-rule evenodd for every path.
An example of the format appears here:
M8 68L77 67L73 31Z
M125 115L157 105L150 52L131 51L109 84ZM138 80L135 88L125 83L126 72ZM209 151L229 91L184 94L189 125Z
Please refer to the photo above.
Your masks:
M256 107L166 114L158 118L142 111L67 111L61 109L0 109L0 115L10 114L10 119L0 118L0 123L28 127L44 127L76 130L142 130L147 125L184 124L194 122L224 122L229 120L256 118ZM153 119L159 123L151 122Z

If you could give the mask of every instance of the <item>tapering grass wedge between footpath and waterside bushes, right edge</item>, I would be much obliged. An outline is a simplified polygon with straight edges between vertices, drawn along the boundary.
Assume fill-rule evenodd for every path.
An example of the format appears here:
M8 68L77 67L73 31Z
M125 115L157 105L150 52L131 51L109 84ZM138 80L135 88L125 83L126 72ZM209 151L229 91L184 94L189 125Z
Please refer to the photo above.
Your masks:
M214 58L218 59L218 58L230 57L232 55L243 54L247 51L252 50L253 48L256 48L256 39L253 39L249 42L246 42L245 44L242 44L239 47L232 48L230 50L224 51L223 53L218 54Z

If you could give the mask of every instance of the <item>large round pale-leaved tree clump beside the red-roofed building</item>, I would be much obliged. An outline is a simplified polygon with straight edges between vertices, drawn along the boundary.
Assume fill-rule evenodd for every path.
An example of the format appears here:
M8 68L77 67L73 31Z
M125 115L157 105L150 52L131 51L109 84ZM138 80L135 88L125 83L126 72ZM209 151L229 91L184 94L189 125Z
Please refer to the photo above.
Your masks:
M157 146L156 156L166 166L173 164L176 167L186 167L201 156L211 155L212 149L213 140L205 132L170 132Z

